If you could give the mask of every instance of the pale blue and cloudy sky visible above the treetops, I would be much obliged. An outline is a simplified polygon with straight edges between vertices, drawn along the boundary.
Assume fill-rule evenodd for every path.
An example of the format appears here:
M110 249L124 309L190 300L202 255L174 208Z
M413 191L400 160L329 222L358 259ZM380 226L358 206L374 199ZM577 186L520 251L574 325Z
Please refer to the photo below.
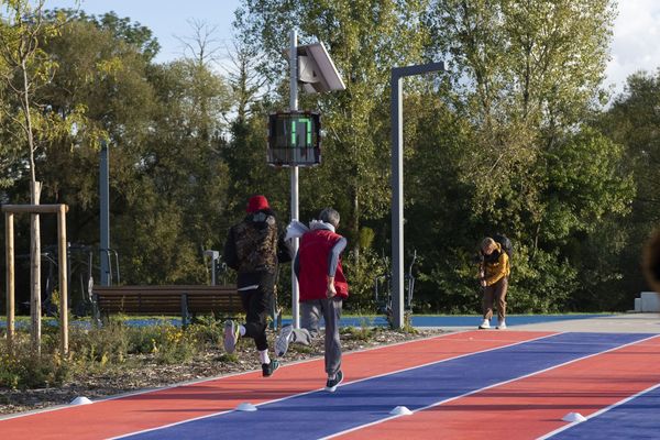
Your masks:
M231 21L240 0L82 0L80 8L90 14L114 11L150 28L162 46L157 62L183 55L183 43L190 37L190 20L217 26L219 46L230 46ZM660 1L618 0L605 86L623 91L626 78L638 72L654 73L660 67ZM46 0L47 8L72 8L74 0ZM178 37L178 38L177 38ZM286 43L284 43L286 44Z

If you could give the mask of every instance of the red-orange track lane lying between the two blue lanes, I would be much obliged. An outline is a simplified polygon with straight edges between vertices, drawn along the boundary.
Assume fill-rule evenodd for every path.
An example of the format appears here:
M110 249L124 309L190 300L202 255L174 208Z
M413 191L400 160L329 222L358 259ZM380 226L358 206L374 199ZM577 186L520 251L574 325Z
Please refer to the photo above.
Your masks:
M536 439L660 383L660 337L333 438ZM606 432L595 433L607 438Z

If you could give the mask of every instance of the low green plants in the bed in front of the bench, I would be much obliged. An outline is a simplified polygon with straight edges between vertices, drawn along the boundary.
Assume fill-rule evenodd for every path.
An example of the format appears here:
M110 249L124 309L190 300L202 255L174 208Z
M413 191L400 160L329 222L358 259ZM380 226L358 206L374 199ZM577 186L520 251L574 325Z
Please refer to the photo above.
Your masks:
M79 373L103 373L134 367L140 362L182 364L189 362L222 340L222 323L204 318L186 330L163 321L131 327L125 317L116 317L99 328L69 329L69 354L63 360L58 328L45 326L41 356L32 351L30 336L15 333L12 354L0 352L0 387L10 389L59 386ZM223 354L221 362L238 362L235 354Z

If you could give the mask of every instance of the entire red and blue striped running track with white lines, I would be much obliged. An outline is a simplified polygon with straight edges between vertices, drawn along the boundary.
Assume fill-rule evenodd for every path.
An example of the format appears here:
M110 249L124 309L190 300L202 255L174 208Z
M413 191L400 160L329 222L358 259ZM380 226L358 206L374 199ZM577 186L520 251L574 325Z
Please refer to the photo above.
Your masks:
M336 393L320 359L9 418L0 438L660 438L660 336L466 331L348 353L342 369Z

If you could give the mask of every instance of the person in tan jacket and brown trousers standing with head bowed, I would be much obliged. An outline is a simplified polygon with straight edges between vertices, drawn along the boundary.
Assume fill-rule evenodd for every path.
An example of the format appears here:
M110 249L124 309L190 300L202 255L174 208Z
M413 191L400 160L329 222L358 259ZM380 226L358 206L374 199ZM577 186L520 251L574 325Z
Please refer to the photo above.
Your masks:
M484 288L482 301L483 318L480 329L491 328L493 306L497 305L497 329L506 329L506 292L510 263L502 245L487 237L482 241L483 263L480 265L480 280Z

